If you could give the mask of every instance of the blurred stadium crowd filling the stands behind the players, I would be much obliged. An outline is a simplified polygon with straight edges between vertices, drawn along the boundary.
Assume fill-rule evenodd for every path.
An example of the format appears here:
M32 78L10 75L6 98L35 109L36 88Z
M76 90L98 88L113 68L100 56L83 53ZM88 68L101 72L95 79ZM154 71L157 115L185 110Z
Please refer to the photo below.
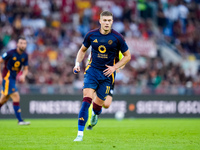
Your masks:
M113 13L113 28L129 43L142 40L140 48L163 39L184 60L200 59L200 0L0 0L1 54L24 35L26 85L81 89L83 73L74 75L72 68L84 35L99 27L102 10ZM154 55L129 48L132 60L116 77L117 93L200 94L199 67L192 71L188 63L166 63L156 47Z

